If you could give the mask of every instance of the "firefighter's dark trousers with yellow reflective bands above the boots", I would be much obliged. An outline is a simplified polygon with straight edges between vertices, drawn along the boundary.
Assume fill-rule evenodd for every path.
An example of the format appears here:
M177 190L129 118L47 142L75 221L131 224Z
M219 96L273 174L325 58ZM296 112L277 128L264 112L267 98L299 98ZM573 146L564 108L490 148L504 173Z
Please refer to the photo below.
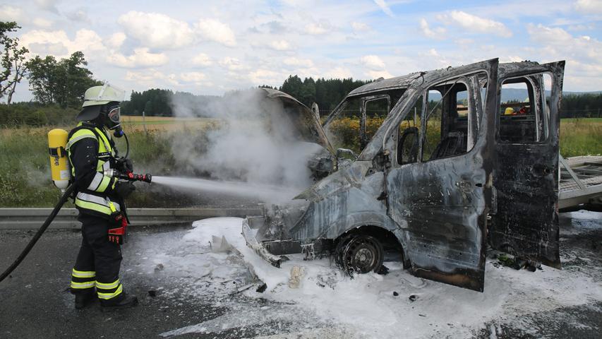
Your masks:
M121 246L109 242L109 220L80 213L82 244L76 265L71 273L71 293L96 292L99 299L119 297L123 287L119 282Z

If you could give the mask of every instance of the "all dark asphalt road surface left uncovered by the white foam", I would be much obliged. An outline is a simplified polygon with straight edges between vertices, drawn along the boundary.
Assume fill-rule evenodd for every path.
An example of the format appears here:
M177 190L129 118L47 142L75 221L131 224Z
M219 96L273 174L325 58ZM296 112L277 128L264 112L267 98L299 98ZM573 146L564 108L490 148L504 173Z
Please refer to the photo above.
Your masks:
M577 221L579 222L579 221ZM592 220L590 220L592 222ZM564 263L565 269L591 270L602 279L602 222L586 232L571 232L574 221L561 218L561 255L576 254L574 262ZM181 232L185 228L133 228L136 234ZM32 231L0 232L0 269L4 270L28 243ZM211 295L191 298L179 293L165 293L169 280L140 271L122 271L121 280L128 292L138 296L140 305L134 309L102 313L94 304L83 310L73 308L73 296L67 291L71 268L80 243L80 234L71 230L49 230L28 258L0 283L0 338L158 338L157 335L174 328L202 323L227 313L226 307L216 306ZM135 263L136 246L124 246L124 264ZM174 281L174 284L177 282ZM157 289L157 287L162 289ZM156 290L151 297L149 290ZM243 297L233 297L243 298ZM246 304L261 299L241 300ZM231 310L230 310L231 311ZM575 326L578 323L579 326ZM520 326L517 326L520 324ZM286 323L270 329L246 326L222 331L219 334L191 333L177 338L242 338L255 335L287 333ZM532 331L531 331L532 330ZM474 332L476 338L600 338L602 331L602 302L567 307L554 311L522 316L520 319L500 319L484 323ZM280 338L280 337L279 337ZM282 337L286 338L286 337ZM290 338L307 338L306 336ZM320 338L309 335L309 338ZM335 338L335 337L331 337ZM338 338L338 337L337 337Z

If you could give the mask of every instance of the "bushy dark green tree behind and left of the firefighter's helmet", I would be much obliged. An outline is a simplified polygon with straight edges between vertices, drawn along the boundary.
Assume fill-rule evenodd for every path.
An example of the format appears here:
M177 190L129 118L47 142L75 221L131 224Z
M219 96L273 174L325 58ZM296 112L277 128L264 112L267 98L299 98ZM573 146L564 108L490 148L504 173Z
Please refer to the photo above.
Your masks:
M71 57L56 61L47 56L36 56L25 64L28 69L30 88L37 101L43 104L56 103L61 107L79 107L85 90L102 85L92 78L92 72L85 68L82 52L74 52Z

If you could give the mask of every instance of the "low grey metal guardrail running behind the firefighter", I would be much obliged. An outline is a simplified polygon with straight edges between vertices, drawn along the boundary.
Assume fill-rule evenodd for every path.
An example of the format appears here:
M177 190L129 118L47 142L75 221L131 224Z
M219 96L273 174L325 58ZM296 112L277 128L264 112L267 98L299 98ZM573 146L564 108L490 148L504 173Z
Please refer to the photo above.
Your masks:
M40 228L52 208L0 208L0 230L31 230ZM174 225L213 217L246 217L260 215L260 208L128 208L131 225ZM75 208L63 208L50 228L79 229Z

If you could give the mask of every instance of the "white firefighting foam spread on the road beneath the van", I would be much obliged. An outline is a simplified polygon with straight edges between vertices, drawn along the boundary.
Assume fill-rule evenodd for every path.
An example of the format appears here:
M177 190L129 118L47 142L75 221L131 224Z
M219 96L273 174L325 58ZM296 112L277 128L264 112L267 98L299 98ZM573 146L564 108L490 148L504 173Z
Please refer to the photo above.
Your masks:
M589 222L574 222L577 229L570 232L591 227L592 222L602 226L596 221L599 213L571 214ZM155 239L157 250L140 266L148 273L160 270L170 279L175 277L182 286L179 292L214 297L219 299L217 304L231 309L216 319L176 328L163 336L265 326L270 338L280 338L274 333L295 333L301 338L464 337L491 326L488 324L515 321L525 314L602 301L599 273L570 265L564 270L543 266L531 273L500 266L488 258L483 293L416 278L398 262L385 263L390 269L387 275L371 273L354 279L342 275L328 259L303 261L301 256L291 256L282 268L275 268L246 246L241 222L240 218L200 220L175 242ZM236 250L212 251L212 246L224 248L222 239ZM573 255L568 251L561 259L570 262ZM289 279L295 266L303 274L299 287L291 288ZM256 285L248 287L247 267L266 283L265 292L256 292ZM242 296L233 299L231 295ZM259 307L252 302L258 298L271 304Z

